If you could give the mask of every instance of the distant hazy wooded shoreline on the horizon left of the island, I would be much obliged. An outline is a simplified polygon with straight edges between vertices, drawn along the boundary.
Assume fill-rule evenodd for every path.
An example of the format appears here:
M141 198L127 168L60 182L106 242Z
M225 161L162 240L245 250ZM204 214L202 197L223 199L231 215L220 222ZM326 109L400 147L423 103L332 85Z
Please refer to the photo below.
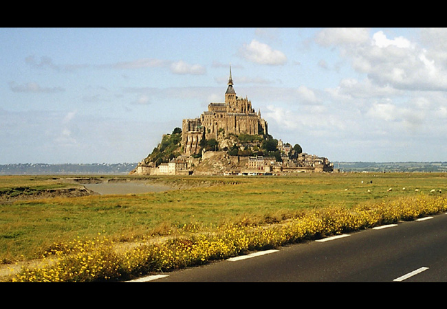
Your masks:
M0 174L127 174L138 163L46 164L19 163L0 165Z

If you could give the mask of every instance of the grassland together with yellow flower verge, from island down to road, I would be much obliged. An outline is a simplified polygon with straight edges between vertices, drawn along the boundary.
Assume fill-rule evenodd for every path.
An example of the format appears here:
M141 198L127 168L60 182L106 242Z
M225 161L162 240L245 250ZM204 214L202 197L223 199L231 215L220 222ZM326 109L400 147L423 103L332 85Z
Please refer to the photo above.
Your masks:
M194 185L149 194L0 205L3 263L43 255L56 261L23 269L15 281L129 279L413 220L447 207L444 193L439 193L446 192L446 175L434 173L188 176L153 181ZM436 194L430 193L433 189Z

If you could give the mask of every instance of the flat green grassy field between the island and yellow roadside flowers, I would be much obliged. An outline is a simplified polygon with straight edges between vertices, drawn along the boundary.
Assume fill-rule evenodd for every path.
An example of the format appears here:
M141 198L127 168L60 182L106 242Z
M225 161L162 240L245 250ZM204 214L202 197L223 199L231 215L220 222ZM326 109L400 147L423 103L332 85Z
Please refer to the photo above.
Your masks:
M122 178L138 180L135 176ZM69 242L78 236L103 233L130 242L144 236L165 236L185 226L207 230L227 222L274 223L299 216L303 209L353 207L421 192L433 194L431 190L437 195L447 192L444 173L164 176L149 180L181 183L184 188L0 204L0 262L36 258L54 242ZM65 186L72 184L61 176L0 176L3 194L23 187L32 192Z

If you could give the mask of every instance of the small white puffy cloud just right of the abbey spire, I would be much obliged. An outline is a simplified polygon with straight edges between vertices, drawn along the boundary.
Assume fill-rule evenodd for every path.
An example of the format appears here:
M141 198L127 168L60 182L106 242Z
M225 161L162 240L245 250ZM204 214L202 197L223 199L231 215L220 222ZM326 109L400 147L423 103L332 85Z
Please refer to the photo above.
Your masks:
M250 44L244 44L239 49L239 55L259 65L284 65L287 62L287 57L283 52L254 39Z

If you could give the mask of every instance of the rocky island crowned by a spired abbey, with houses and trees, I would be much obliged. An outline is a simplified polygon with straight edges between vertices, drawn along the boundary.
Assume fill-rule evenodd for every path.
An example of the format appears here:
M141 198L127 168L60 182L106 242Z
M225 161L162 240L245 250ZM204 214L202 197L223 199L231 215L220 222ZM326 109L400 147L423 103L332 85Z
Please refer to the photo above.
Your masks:
M163 135L131 174L230 175L333 172L326 157L308 155L299 144L274 139L268 124L248 98L239 98L231 75L225 101L211 102L182 128Z

